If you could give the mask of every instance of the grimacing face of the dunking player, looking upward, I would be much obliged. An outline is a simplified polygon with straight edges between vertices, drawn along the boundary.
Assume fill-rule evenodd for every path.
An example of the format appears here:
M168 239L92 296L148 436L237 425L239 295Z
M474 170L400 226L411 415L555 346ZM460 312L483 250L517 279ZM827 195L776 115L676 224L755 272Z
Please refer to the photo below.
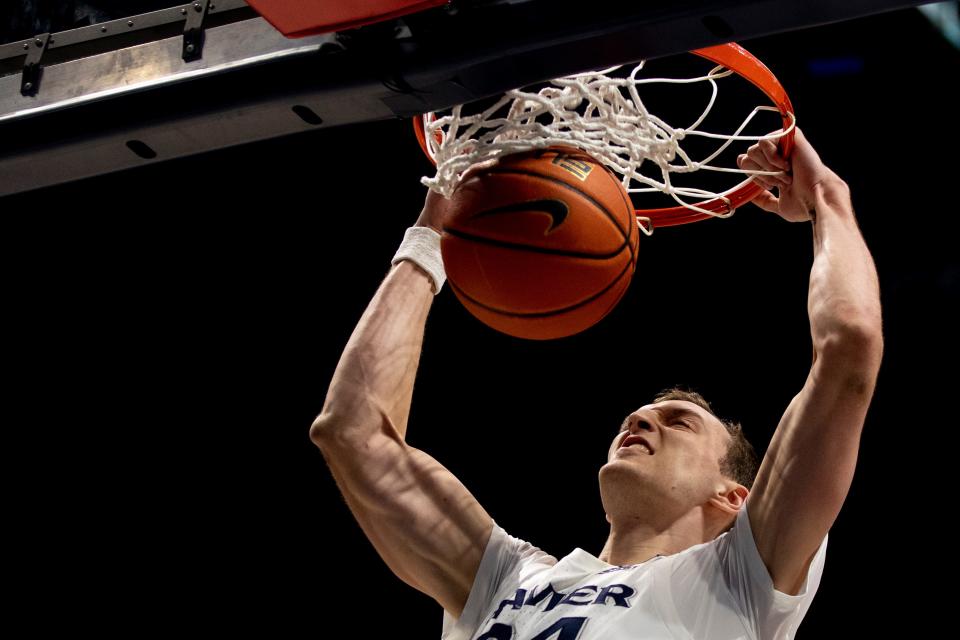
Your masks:
M685 400L640 407L624 420L601 469L612 481L649 485L684 494L684 501L706 499L721 477L720 460L730 434L708 411ZM680 499L680 495L676 495Z

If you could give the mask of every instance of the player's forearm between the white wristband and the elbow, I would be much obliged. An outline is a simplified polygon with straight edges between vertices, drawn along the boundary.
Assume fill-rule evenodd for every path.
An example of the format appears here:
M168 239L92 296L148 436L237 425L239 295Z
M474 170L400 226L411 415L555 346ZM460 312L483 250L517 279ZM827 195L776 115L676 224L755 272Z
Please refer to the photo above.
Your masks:
M310 430L314 442L362 442L387 424L405 436L432 287L430 277L410 261L390 270L340 357Z

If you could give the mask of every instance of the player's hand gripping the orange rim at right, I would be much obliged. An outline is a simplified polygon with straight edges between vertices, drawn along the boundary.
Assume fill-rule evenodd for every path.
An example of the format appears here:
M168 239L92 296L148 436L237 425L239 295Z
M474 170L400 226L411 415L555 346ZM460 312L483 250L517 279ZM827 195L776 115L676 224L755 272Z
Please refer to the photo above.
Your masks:
M751 202L765 211L772 211L784 220L812 220L817 189L830 184L843 184L797 127L795 146L790 158L780 155L772 140L761 140L737 158L741 169L778 171L773 176L754 176L757 184L767 189ZM777 189L777 195L771 193Z

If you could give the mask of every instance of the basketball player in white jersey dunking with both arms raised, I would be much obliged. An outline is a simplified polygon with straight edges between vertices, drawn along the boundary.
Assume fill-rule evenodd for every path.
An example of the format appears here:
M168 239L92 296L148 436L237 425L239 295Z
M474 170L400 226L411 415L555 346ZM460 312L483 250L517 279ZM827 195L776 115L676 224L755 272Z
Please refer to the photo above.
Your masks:
M443 607L443 638L794 636L853 478L883 349L879 290L847 185L799 129L789 160L760 142L738 163L780 172L757 178L767 190L755 204L812 227L809 377L755 479L742 434L699 396L672 393L631 413L599 473L609 538L599 556L576 549L560 561L508 535L404 441L424 325L443 282L433 230L451 213L427 195L311 437L387 565Z

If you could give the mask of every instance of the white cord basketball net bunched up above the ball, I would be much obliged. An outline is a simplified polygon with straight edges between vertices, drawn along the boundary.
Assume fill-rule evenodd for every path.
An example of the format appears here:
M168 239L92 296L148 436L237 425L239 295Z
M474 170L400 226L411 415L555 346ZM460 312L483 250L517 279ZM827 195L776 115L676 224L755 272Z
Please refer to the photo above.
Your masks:
M694 78L637 78L644 64L640 62L626 78L607 75L623 66L618 65L603 71L551 80L552 86L538 93L522 89L508 91L493 106L471 115L463 114L464 105L453 107L449 115L442 117L434 113L424 114L427 149L437 164L437 173L433 178L424 177L421 182L449 197L463 174L475 165L491 162L506 154L559 144L577 147L616 171L623 176L623 186L628 193L660 191L692 211L718 218L733 215L732 207L728 207L726 213L717 213L698 207L697 202L720 198L729 204L726 195L743 183L723 193L715 193L675 186L671 183L671 174L723 171L744 174L746 180L753 175L775 175L776 172L746 171L710 163L734 141L776 140L786 135L795 126L796 119L792 113L789 114L790 126L776 133L765 136L740 135L760 111L778 112L772 106L757 106L732 134L701 131L699 127L716 102L717 80L734 72L717 66L706 75ZM637 88L655 82L708 82L712 89L710 101L691 126L672 127L647 111L640 99ZM578 111L581 107L582 114ZM503 113L504 109L506 113ZM545 122L547 119L551 120ZM680 142L688 136L714 138L722 142L707 157L693 160L680 148ZM645 161L657 167L659 178L640 173L640 166ZM646 222L649 223L649 220ZM650 225L640 224L644 232L650 233L647 227Z

